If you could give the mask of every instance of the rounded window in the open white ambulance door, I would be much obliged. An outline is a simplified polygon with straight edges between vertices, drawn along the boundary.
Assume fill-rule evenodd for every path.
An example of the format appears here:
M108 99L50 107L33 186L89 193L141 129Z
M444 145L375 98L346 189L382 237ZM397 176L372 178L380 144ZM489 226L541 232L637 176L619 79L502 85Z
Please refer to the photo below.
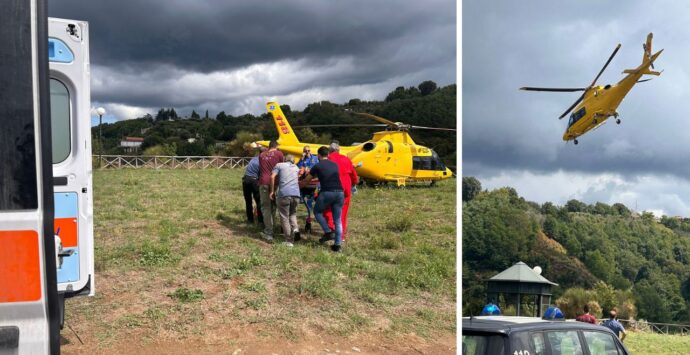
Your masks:
M70 102L65 84L50 79L50 124L53 138L53 164L63 162L69 156L70 140Z

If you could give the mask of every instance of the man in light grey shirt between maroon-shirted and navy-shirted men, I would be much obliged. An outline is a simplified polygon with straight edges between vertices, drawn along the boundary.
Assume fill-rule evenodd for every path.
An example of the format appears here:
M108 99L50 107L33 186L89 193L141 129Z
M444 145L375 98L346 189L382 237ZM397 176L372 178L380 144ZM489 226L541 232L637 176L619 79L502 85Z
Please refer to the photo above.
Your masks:
M297 225L297 205L299 204L298 173L299 168L295 165L295 158L291 154L285 156L284 162L276 164L271 172L269 196L278 205L280 224L285 234L285 242L283 244L289 247L292 246L293 242L300 240L299 226ZM277 199L276 180L279 186Z

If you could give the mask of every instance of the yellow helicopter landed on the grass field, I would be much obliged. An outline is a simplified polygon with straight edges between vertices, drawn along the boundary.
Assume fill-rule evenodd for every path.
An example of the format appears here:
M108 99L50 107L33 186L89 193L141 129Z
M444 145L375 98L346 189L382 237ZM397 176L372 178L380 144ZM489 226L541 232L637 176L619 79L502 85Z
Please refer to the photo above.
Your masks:
M280 151L299 157L305 146L309 146L312 152L316 152L320 146L323 146L323 144L318 143L300 142L277 102L268 102L266 107L278 130L278 149ZM388 128L386 131L374 133L374 136L364 143L340 147L340 153L352 160L360 178L376 182L394 182L397 186L405 186L407 182L411 181L431 181L433 184L453 175L450 169L446 168L439 159L438 154L433 149L416 144L408 134L408 130L414 128L455 131L455 129L412 126L401 122L392 122L368 113L356 114L381 122L381 124L367 126L385 126ZM312 125L309 127L338 126L343 125ZM258 141L256 143L267 147L269 142Z

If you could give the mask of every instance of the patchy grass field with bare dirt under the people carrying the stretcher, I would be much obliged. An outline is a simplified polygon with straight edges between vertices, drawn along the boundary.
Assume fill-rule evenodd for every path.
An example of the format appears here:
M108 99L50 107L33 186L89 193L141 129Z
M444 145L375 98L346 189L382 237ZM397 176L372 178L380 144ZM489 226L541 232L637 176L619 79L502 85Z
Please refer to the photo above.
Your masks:
M294 248L260 240L244 222L241 174L96 171L97 296L67 301L63 350L246 337L454 342L454 179L360 189L334 254L318 227Z

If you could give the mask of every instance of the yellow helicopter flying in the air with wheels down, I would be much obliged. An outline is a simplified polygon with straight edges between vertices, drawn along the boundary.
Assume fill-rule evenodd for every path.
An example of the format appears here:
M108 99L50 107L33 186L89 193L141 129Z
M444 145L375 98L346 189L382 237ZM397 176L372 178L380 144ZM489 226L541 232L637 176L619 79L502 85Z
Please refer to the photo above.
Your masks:
M537 87L522 87L520 90L528 91L551 91L551 92L573 92L573 91L584 91L580 98L578 98L575 103L573 103L568 109L560 116L559 119L565 117L568 113L573 112L570 115L570 120L568 121L568 128L563 133L563 140L570 141L573 140L577 144L577 137L601 126L606 122L606 120L613 116L616 118L616 123L620 124L621 120L618 118L618 113L616 108L620 105L625 95L628 94L630 89L637 83L644 81L649 81L651 79L639 80L642 75L661 75L661 72L650 70L651 66L654 69L654 61L664 50L660 50L653 55L652 53L652 34L647 35L647 42L642 44L644 49L644 54L642 57L642 64L635 69L626 69L623 74L628 74L623 78L618 84L606 85L606 86L595 86L597 79L604 72L606 67L609 65L613 57L616 55L621 45L618 44L616 49L606 61L604 67L601 68L599 74L594 78L592 83L586 88L537 88Z

